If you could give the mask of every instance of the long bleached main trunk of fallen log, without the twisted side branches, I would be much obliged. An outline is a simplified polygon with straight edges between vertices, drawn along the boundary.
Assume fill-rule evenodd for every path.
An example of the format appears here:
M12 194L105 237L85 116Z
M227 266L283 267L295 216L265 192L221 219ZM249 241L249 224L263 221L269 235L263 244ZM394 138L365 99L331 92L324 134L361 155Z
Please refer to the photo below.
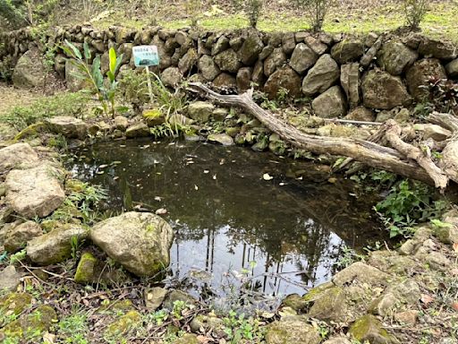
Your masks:
M255 116L270 131L278 134L285 142L294 147L317 154L332 154L360 161L369 167L384 169L400 176L417 179L429 185L436 185L428 171L421 168L417 161L406 158L403 153L375 142L341 137L314 136L302 133L293 125L284 123L280 118L259 107L252 99L253 90L241 95L222 95L200 82L190 82L190 90L202 93L225 106L242 107ZM440 184L442 185L442 183Z

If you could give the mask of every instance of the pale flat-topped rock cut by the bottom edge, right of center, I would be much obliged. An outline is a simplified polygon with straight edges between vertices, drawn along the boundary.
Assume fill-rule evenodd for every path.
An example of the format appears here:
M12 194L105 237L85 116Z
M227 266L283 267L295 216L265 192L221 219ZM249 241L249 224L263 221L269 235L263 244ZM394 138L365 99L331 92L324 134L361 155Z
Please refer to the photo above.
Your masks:
M300 320L274 322L267 326L267 344L319 344L320 341L318 330Z

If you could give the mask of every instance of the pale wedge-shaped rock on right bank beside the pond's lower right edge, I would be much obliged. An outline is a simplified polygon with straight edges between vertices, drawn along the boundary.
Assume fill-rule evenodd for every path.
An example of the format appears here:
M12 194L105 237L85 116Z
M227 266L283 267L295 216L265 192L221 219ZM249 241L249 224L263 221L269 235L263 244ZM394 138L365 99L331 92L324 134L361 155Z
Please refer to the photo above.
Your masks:
M336 286L343 286L346 283L351 283L353 280L369 283L370 285L386 285L388 275L363 262L354 262L343 271L337 272L333 278Z

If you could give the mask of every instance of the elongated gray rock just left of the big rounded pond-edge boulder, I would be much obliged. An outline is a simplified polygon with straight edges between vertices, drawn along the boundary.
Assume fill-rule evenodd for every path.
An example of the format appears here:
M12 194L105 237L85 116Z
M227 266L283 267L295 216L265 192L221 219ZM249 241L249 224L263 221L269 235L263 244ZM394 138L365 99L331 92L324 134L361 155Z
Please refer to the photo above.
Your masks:
M87 237L86 228L67 224L30 240L26 247L27 256L38 265L64 262L72 255L72 240L76 238L81 243Z

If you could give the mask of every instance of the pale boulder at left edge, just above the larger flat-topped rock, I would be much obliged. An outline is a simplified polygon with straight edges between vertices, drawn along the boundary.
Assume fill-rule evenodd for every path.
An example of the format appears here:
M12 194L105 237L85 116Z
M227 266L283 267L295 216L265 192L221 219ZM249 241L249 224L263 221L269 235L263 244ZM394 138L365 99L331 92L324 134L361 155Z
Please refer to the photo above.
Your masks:
M38 162L38 154L29 143L15 143L0 150L0 173L13 168L30 168Z

